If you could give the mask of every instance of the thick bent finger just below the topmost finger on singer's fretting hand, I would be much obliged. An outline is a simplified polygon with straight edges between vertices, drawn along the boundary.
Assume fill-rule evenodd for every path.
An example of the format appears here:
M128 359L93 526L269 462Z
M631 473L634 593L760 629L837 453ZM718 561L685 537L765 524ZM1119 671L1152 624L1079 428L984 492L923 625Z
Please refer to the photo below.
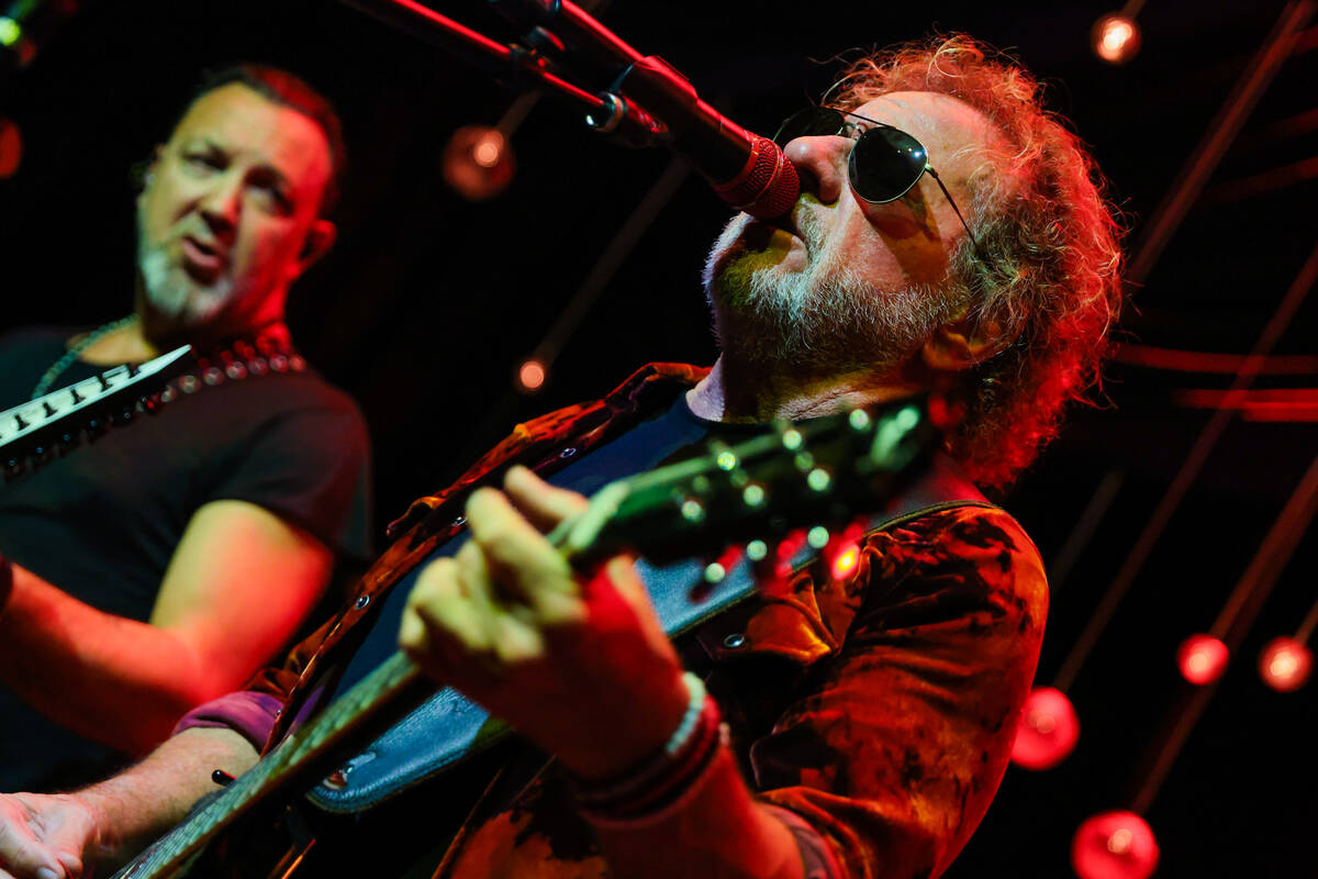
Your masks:
M539 611L544 593L577 594L568 563L501 493L472 494L467 522L492 579L522 604Z

